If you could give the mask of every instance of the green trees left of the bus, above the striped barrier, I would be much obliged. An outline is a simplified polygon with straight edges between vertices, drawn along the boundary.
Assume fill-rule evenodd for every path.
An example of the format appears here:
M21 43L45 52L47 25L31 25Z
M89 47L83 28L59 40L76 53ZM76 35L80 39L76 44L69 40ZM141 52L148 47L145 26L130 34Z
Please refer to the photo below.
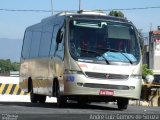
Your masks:
M11 62L10 59L0 59L0 73L7 73L10 71L19 71L19 63Z

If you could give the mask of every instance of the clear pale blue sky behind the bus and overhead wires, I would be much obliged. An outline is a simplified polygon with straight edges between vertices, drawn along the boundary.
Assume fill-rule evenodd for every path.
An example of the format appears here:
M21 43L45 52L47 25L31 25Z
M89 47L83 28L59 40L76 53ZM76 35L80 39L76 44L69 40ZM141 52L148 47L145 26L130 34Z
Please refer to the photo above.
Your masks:
M52 0L53 10L78 10L79 0ZM122 11L137 29L156 30L160 25L160 0L81 0L81 9L108 10L159 7ZM51 16L51 12L15 12L9 10L51 10L51 0L0 0L0 38L23 39L25 28ZM55 12L54 12L55 13ZM107 11L107 14L109 11Z

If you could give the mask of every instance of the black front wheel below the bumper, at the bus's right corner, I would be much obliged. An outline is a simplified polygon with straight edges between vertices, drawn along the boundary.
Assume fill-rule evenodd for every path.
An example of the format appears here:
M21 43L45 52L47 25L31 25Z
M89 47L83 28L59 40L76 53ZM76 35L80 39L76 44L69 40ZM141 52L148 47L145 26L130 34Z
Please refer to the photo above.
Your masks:
M129 100L127 98L117 99L117 106L119 110L125 110L128 107Z

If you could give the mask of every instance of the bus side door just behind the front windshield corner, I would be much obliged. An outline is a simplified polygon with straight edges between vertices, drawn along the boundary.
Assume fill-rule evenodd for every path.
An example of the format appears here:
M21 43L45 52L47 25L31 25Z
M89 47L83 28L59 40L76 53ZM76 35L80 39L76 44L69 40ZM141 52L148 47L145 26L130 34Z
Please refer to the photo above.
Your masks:
M54 25L52 44L50 50L49 76L58 78L59 84L63 84L64 69L64 28L59 24Z

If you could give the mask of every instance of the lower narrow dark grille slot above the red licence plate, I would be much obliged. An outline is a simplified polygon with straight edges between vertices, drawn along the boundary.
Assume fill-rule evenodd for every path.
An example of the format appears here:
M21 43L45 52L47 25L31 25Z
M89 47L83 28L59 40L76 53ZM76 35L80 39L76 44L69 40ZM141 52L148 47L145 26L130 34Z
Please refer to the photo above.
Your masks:
M83 87L90 88L104 88L104 89L117 89L117 90L129 90L128 86L124 85L108 85L108 84L93 84L93 83L84 83Z

